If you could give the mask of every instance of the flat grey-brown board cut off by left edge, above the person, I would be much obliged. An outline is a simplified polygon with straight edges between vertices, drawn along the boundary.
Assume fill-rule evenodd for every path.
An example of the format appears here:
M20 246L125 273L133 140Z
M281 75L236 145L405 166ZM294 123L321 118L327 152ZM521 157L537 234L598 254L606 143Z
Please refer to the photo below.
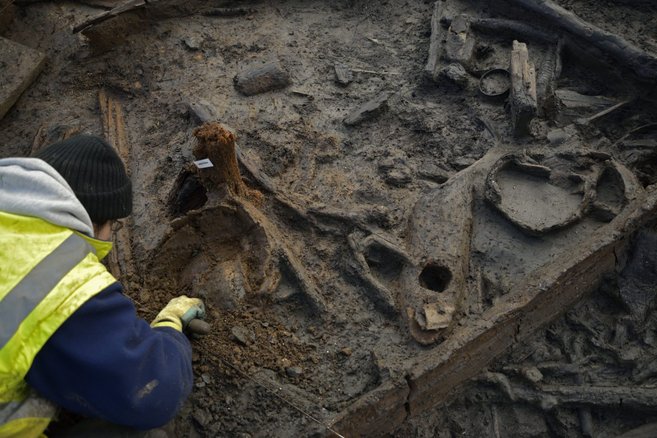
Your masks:
M34 82L46 60L45 54L0 37L0 119Z

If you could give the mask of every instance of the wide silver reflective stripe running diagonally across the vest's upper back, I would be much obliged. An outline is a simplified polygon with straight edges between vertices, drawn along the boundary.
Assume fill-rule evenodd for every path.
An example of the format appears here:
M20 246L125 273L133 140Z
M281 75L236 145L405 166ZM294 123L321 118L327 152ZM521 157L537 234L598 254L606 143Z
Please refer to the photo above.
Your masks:
M28 275L0 301L0 349L14 336L20 323L30 315L66 274L96 250L76 233L45 256Z

